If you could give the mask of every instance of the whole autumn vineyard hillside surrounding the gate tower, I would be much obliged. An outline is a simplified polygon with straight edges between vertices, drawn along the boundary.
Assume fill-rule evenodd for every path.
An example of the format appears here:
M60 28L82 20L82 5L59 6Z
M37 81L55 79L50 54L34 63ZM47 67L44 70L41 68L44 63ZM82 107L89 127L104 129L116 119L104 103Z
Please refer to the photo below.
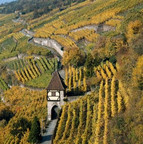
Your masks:
M47 100L45 91L20 86L45 88L59 68L65 71L67 94L85 96L63 106L54 144L143 143L143 0L65 5L38 18L28 7L18 19L16 13L0 15L0 143L28 143L28 128L21 137L11 134L14 122L35 115L41 122ZM45 39L60 45L62 58L43 46Z

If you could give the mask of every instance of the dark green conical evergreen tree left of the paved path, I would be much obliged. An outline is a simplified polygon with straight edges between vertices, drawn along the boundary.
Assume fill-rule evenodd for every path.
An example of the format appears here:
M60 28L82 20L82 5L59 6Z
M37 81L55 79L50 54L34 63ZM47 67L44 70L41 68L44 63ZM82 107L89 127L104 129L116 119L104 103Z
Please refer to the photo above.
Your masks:
M29 134L28 141L30 143L37 143L40 140L40 122L37 117L34 117Z

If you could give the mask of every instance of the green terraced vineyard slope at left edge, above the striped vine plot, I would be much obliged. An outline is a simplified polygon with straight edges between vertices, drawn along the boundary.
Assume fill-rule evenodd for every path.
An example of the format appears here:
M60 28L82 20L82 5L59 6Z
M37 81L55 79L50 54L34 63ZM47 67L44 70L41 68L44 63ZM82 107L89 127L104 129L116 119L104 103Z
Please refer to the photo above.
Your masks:
M28 38L21 33L24 26L13 21L14 14L0 16L0 60L15 57L18 54L51 55L48 49L28 43Z

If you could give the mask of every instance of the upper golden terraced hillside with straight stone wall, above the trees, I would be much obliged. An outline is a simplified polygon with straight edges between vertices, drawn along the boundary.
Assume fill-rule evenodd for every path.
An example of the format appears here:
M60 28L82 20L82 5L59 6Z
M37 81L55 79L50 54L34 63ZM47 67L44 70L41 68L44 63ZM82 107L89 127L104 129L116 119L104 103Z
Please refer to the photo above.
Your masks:
M102 37L108 38L107 47L112 45L110 42L118 45L119 41L124 41L129 22L137 19L141 23L141 13L141 0L85 1L51 16L44 15L27 22L28 29L35 32L34 37L55 40L63 47L65 52L63 64L65 65L68 53L78 51L87 54L94 51L94 46L98 45ZM139 26L139 24L136 25ZM115 37L114 40L113 37ZM114 46L111 49L114 49ZM115 50L118 51L117 48ZM112 55L115 55L115 51L110 50L110 54L107 53L106 57ZM102 57L104 58L105 56Z

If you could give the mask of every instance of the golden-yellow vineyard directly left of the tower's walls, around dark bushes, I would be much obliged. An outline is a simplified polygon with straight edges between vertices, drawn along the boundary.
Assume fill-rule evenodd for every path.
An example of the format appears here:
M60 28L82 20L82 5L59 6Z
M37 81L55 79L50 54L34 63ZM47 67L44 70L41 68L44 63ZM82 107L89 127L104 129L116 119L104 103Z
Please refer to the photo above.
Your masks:
M42 118L46 118L47 111L46 91L38 92L31 91L26 88L13 87L4 94L6 103L13 106L11 108L7 108L7 106L0 103L0 110L10 110L14 116L5 128L0 127L0 131L3 131L3 133L0 133L0 142L4 142L6 144L26 143L26 135L29 134L28 130L23 133L22 139L19 139L18 135L12 135L10 131L13 128L13 124L20 118L25 118L28 121L31 121L34 116L37 116L42 124Z

